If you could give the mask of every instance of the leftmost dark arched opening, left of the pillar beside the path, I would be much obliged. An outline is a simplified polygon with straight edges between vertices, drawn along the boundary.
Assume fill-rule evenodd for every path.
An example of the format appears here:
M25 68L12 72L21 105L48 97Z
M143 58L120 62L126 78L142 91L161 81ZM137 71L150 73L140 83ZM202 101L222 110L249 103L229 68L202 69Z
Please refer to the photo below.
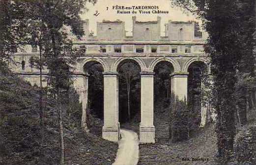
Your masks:
M104 121L104 95L102 65L89 61L84 66L87 88L86 123L91 133L101 136Z

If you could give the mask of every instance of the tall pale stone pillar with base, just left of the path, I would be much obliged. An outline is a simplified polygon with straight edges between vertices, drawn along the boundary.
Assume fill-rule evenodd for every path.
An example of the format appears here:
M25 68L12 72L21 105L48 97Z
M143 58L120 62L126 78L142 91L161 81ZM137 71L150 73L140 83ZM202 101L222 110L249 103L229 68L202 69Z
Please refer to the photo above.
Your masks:
M120 124L118 122L118 78L117 72L103 72L104 75L104 126L103 139L118 141Z

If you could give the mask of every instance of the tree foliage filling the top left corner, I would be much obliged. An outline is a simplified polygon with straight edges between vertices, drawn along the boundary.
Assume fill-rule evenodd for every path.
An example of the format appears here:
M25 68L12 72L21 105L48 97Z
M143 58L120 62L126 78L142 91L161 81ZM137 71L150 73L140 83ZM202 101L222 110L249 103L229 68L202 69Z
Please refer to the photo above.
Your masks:
M0 1L0 70L6 71L10 54L26 43L26 5L11 0Z

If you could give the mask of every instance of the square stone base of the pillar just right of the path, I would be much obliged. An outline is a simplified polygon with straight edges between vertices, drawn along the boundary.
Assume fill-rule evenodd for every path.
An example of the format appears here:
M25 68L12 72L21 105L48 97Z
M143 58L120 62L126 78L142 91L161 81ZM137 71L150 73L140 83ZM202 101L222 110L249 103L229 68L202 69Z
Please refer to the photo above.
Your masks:
M155 143L155 127L140 126L140 143Z

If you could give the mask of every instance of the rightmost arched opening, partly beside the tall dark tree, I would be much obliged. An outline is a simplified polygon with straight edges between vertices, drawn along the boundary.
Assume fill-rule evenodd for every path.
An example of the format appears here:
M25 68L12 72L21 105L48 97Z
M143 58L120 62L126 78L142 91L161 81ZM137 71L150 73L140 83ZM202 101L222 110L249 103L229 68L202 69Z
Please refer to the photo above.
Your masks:
M201 87L205 71L206 65L201 61L195 61L188 67L188 106L191 129L197 129L201 123Z

